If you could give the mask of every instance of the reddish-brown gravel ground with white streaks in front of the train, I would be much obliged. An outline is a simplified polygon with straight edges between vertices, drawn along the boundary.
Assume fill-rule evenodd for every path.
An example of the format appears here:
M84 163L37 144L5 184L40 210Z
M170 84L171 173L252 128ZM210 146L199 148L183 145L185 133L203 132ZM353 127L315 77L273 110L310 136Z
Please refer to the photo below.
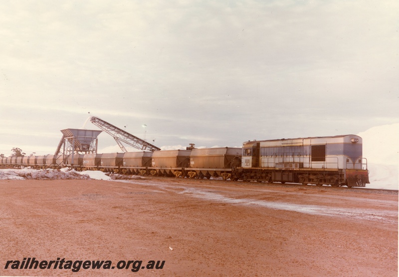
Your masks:
M398 191L175 178L0 188L0 275L398 276ZM28 257L165 264L4 269Z

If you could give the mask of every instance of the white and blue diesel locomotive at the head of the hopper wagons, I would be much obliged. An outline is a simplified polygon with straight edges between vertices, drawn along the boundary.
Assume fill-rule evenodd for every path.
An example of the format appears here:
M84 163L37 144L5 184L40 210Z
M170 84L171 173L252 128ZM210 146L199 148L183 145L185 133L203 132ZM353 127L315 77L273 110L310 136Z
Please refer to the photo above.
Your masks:
M244 142L237 178L334 187L370 183L356 135Z

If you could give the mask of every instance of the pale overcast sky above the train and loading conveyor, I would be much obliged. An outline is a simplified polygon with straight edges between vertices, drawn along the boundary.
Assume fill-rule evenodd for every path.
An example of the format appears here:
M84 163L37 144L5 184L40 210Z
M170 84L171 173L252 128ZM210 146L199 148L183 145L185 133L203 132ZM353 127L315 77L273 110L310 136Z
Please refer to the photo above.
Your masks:
M89 115L158 147L397 123L398 11L398 0L1 0L0 153L53 154L60 130ZM111 145L102 133L99 148Z

